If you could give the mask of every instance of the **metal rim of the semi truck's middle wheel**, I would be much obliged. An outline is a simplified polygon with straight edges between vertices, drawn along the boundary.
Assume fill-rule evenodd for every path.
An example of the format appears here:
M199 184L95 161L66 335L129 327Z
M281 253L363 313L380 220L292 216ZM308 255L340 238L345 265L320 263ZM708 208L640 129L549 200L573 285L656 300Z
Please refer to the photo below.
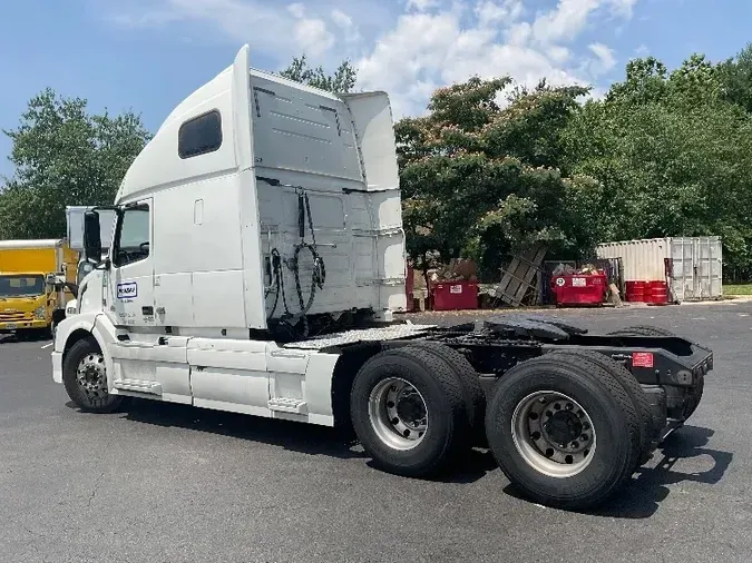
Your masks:
M412 384L399 377L388 377L373 387L368 411L379 439L394 450L416 447L428 431L426 399Z

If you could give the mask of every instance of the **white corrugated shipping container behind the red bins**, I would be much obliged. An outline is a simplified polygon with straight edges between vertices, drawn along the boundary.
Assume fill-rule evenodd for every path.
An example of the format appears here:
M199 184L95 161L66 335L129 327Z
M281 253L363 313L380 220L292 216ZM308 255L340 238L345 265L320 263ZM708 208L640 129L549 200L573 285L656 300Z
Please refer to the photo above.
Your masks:
M723 296L721 237L666 237L604 243L598 258L622 258L625 282L666 280L678 302ZM668 266L666 266L666 263Z

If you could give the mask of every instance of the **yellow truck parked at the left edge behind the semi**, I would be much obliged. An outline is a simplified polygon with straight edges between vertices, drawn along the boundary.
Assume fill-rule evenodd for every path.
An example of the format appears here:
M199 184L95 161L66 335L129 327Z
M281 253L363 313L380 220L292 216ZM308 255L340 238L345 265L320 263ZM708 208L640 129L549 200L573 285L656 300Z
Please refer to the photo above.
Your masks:
M0 334L53 335L75 298L77 265L65 238L0 240Z

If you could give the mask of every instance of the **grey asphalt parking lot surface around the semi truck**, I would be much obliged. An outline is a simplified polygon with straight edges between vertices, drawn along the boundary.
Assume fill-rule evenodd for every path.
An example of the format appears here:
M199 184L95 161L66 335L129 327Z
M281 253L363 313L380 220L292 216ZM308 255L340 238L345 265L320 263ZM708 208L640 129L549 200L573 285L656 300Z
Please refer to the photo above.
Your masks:
M654 324L715 355L692 419L597 512L519 500L485 451L411 480L328 428L146 402L82 414L47 342L0 336L0 561L752 561L752 303L543 314Z

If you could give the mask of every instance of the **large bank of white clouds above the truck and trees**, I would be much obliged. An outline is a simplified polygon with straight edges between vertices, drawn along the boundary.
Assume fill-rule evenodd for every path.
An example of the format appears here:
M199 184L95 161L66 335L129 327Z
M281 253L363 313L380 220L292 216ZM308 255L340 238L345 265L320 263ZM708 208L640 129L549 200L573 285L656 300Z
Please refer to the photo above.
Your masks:
M90 0L94 1L94 0ZM114 0L113 0L114 1ZM637 0L120 0L120 26L213 24L233 42L284 65L306 52L315 65L354 60L358 88L387 90L397 117L422 113L437 87L511 76L535 86L594 85L617 63L603 42ZM397 6L395 6L397 4ZM395 11L397 10L397 11ZM206 33L205 33L206 34ZM585 40L587 39L587 40Z

